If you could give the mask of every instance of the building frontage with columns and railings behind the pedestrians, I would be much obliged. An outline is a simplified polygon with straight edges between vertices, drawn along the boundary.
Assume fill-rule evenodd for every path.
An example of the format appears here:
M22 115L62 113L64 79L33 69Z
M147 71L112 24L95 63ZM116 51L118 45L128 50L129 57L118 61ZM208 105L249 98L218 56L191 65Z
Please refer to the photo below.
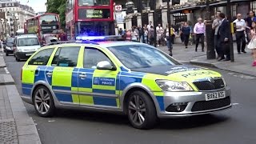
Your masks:
M131 26L145 25L150 21L161 24L163 27L167 24L167 4L162 0L142 0L142 13L137 12L139 6L138 0L129 0L134 3L134 13L126 14L126 0L115 0L115 5L122 5L123 22L118 22L117 27L131 29ZM244 18L250 10L256 10L255 0L231 0L232 18L240 13ZM155 6L156 10L153 10ZM206 0L180 0L180 4L172 5L170 0L170 19L173 26L178 26L180 22L190 22L194 25L199 17L205 18L206 14ZM226 0L210 0L210 12L212 15L217 10L221 10L226 14ZM117 12L116 12L117 13ZM116 14L115 13L115 14ZM118 12L120 14L120 12ZM154 18L154 13L155 18Z

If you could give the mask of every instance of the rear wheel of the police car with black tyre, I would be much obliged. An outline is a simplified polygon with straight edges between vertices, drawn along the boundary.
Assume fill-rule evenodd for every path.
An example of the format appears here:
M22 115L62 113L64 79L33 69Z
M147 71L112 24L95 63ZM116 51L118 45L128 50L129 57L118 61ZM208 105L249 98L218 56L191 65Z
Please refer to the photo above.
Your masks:
M50 90L46 86L38 86L33 94L34 109L41 117L51 117L54 115L54 99Z

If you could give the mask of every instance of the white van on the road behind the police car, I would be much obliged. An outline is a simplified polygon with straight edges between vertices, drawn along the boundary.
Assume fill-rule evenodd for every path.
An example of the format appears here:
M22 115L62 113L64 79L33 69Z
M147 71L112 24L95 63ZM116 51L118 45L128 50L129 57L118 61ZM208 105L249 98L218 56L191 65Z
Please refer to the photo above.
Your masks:
M36 34L20 34L14 40L14 57L16 61L28 59L40 47Z

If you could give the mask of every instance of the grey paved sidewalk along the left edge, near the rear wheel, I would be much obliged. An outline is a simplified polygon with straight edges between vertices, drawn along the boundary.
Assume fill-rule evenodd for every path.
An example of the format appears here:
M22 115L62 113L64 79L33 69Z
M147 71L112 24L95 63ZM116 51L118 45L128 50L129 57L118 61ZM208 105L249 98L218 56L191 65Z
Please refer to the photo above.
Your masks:
M5 66L2 56L0 59L0 66ZM10 74L0 74L0 143L41 144Z

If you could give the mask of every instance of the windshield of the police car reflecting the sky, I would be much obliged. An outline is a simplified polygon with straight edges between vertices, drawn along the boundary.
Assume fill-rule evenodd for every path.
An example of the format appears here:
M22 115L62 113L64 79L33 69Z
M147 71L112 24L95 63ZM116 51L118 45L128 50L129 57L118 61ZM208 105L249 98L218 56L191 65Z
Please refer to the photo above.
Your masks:
M150 68L154 66L179 65L162 51L150 46L113 46L108 48L129 69Z

